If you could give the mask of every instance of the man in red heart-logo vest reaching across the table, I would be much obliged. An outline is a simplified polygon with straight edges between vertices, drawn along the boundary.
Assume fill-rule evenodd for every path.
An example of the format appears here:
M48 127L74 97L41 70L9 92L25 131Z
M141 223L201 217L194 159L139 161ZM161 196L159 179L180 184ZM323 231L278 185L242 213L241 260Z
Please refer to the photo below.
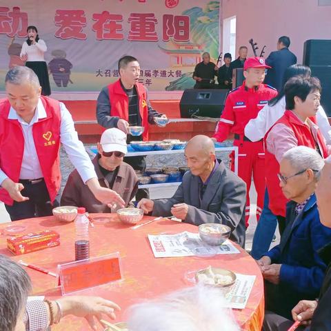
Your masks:
M63 103L41 96L37 75L17 66L6 74L5 83L8 99L0 101L0 201L12 221L50 215L59 205L60 143L96 199L124 205L119 194L101 188L70 113Z

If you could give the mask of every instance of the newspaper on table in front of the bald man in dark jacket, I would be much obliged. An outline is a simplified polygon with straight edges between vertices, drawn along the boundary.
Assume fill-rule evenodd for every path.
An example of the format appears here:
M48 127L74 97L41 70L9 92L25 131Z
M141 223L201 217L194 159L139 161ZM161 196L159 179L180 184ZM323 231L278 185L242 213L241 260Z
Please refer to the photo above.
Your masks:
M148 234L154 257L194 257L199 248L214 254L239 254L239 250L229 241L219 246L209 246L200 239L199 233L188 231L177 234Z

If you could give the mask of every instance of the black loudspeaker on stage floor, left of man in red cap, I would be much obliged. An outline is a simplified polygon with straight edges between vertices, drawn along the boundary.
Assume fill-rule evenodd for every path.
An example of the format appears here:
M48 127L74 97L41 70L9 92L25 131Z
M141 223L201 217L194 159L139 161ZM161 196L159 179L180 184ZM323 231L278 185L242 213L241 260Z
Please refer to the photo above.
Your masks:
M228 90L185 90L179 103L181 117L195 115L218 118L223 112L227 95Z

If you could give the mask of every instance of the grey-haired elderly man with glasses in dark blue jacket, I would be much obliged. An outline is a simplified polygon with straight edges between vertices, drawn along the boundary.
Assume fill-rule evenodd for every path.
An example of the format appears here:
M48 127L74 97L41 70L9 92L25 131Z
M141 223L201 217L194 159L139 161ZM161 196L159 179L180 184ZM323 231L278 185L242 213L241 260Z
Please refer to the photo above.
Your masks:
M315 190L324 161L306 146L285 152L279 180L287 205L281 242L259 259L265 279L266 309L285 318L301 299L319 295L326 270L318 252L331 241L331 229L319 221Z

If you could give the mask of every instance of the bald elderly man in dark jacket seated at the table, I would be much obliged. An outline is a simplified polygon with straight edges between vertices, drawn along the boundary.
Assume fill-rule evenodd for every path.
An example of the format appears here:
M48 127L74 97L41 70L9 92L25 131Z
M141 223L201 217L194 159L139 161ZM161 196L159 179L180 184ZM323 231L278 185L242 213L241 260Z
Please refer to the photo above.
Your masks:
M220 223L230 226L230 239L245 245L245 194L242 179L217 161L214 143L204 135L193 137L185 148L190 171L170 199L139 201L138 208L153 216L171 216L185 223Z

